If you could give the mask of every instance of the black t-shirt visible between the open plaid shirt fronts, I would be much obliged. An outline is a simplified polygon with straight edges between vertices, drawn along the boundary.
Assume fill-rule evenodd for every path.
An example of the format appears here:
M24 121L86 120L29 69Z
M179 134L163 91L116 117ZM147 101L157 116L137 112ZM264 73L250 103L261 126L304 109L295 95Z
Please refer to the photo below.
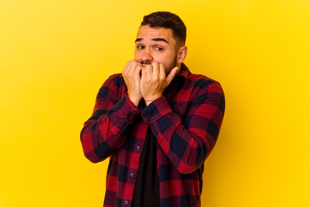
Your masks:
M157 140L149 127L140 158L132 207L159 207L156 145Z

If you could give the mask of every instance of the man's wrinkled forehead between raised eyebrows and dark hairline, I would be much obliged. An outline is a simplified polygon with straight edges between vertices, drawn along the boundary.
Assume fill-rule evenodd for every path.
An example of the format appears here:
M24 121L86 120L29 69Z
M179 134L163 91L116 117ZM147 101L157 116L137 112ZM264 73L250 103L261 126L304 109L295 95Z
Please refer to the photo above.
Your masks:
M162 27L149 27L149 26L141 26L137 33L137 40L149 41L154 40L156 38L163 38L167 40L168 44L175 43L175 39L172 34L171 29L166 29Z

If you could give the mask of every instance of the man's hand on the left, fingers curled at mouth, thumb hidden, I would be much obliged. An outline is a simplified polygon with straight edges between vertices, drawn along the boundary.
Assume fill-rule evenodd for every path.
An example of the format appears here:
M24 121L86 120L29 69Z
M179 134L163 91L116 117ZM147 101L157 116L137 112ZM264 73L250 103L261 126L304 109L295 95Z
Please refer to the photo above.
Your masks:
M140 91L141 70L143 66L140 62L130 60L127 62L122 75L127 86L128 97L130 101L136 106L139 105L142 100L142 94Z

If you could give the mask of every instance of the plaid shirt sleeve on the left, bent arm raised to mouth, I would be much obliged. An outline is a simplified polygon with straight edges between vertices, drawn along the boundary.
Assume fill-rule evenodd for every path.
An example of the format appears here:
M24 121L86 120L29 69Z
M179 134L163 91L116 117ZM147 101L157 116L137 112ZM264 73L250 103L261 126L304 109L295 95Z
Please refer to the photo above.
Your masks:
M116 87L114 80L115 77L110 77L104 82L93 114L81 131L84 154L92 162L106 159L124 144L128 130L140 113L129 100L125 84Z

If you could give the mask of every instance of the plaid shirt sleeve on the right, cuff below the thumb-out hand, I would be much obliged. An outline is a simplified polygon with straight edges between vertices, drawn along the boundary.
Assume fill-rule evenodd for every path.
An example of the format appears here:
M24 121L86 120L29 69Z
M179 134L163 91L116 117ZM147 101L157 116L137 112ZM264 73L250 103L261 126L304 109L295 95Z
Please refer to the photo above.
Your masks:
M165 97L142 110L165 155L180 173L197 170L212 151L222 124L224 93L217 82L206 82L193 91L188 109L173 111ZM181 115L184 110L186 114ZM181 112L181 113L180 113Z

